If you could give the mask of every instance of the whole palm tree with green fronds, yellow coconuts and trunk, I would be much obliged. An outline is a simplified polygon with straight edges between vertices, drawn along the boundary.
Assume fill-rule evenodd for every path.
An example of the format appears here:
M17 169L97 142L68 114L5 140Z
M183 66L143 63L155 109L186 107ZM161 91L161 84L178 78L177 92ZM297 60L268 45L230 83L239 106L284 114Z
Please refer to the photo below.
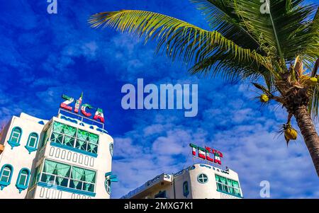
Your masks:
M172 60L191 64L191 74L247 79L262 103L273 100L287 111L281 133L296 139L295 117L319 175L319 13L303 0L192 0L212 30L149 11L96 13L92 28L111 27L156 40ZM317 79L318 76L318 79ZM257 84L257 82L259 84ZM262 85L263 84L263 85Z

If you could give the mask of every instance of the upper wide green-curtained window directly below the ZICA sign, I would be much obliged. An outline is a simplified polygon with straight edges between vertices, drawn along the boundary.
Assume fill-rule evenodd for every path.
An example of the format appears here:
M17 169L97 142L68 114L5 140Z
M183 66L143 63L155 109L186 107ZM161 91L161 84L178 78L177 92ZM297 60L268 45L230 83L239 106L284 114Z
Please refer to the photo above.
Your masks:
M99 148L99 135L60 122L53 123L50 141L53 145L69 147L72 151L91 156L96 156Z

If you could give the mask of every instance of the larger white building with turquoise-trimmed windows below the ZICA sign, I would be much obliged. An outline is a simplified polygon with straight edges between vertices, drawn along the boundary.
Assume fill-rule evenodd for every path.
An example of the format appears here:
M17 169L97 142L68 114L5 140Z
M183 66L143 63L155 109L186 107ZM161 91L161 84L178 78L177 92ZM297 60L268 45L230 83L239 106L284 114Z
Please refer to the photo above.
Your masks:
M83 118L13 116L0 138L0 198L109 198L112 155L112 137Z

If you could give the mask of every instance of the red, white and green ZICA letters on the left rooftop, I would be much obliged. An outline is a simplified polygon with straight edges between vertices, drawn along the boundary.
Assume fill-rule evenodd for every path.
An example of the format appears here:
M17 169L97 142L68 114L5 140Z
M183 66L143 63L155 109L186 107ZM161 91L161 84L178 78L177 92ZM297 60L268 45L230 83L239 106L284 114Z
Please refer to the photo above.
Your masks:
M69 97L69 96L65 96L65 95L62 95L62 98L65 99L65 101L60 104L60 108L72 111L73 108L72 108L71 104L74 102L74 98ZM82 104L82 98L83 98L83 93L82 93L81 97L75 102L74 113L79 113L79 110L81 110L81 113L85 117L91 117L92 114L89 113L87 110L94 109L94 107L92 107L88 103ZM93 119L97 120L97 121L100 120L101 122L104 122L103 110L101 108L96 109L96 112L94 114Z

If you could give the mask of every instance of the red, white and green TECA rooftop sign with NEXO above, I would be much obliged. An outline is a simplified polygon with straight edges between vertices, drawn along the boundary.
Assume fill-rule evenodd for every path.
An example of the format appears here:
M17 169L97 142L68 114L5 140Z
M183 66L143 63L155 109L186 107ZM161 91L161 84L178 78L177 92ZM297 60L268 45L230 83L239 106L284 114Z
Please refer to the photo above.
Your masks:
M207 146L205 146L204 149L200 146L196 146L195 144L189 144L189 146L191 146L193 156L196 156L197 152L198 157L200 159L211 161L213 163L218 163L219 165L221 165L220 159L223 158L223 153L221 153L220 151L217 151L216 149L211 149ZM210 154L212 155L210 156Z

